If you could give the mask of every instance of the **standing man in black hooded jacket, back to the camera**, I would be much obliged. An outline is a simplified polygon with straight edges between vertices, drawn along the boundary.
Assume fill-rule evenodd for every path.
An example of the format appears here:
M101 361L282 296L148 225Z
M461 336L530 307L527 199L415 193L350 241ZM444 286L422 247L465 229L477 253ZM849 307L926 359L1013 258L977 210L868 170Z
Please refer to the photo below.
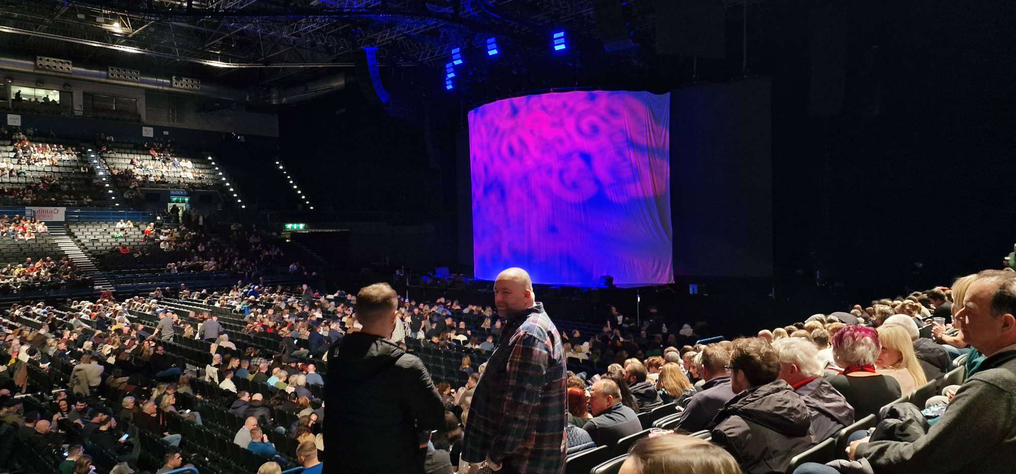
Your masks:
M350 474L423 474L419 432L444 424L444 404L423 362L388 340L398 294L386 283L357 294L363 325L328 354L326 465Z

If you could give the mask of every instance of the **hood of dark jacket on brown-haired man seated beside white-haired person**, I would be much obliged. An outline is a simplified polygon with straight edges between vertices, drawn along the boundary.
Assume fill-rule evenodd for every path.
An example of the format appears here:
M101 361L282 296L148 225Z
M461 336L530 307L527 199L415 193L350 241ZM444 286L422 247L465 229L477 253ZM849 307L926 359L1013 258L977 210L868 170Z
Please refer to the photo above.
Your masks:
M804 399L780 380L738 394L715 419L733 415L786 436L804 436L812 424Z

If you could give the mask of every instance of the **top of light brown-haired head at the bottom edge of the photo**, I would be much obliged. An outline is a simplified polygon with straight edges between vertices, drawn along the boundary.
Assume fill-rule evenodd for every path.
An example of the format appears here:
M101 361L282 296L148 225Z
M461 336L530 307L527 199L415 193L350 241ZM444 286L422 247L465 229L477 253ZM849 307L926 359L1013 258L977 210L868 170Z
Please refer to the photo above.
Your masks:
M687 434L643 437L618 474L741 474L726 450Z

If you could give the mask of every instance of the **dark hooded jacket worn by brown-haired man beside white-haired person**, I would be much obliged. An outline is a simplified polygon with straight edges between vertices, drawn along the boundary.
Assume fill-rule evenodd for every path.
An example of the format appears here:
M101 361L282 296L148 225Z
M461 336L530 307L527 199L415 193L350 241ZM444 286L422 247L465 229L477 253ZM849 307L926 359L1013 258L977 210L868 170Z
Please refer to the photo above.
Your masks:
M811 419L804 398L777 380L726 402L710 423L712 443L734 455L746 474L784 473L796 455L816 445Z

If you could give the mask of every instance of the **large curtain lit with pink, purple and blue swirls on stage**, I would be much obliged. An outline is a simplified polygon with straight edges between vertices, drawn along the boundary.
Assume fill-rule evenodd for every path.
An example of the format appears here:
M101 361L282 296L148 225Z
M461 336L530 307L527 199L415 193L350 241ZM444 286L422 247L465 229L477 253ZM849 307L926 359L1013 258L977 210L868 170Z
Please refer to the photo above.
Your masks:
M670 99L558 92L469 112L475 277L674 282Z

